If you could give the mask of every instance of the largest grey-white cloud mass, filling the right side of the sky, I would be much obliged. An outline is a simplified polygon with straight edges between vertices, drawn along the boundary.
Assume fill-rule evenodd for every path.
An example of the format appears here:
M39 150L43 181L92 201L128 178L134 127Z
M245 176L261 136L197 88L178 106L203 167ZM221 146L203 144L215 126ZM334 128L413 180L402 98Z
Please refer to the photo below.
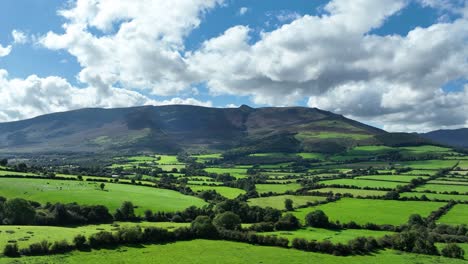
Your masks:
M465 93L441 87L468 77L468 20L415 28L406 36L369 33L406 4L334 0L325 14L298 18L254 44L249 28L228 29L188 61L214 94L271 105L310 97L309 106L390 130L462 126L468 115L458 109L468 104Z

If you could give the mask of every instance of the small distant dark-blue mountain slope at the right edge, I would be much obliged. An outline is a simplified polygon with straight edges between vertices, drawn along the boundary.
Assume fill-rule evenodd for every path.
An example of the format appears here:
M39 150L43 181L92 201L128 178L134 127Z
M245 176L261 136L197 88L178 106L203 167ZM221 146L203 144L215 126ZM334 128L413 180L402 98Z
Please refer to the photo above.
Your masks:
M468 128L437 130L420 135L439 144L468 148Z

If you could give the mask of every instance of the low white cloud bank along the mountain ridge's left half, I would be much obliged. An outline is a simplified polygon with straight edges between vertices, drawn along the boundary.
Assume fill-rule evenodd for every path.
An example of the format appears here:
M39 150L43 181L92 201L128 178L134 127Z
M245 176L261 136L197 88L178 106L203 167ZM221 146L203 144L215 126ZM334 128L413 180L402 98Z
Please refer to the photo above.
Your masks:
M50 76L41 78L31 75L26 79L9 78L6 70L0 69L0 121L30 118L51 112L68 111L85 107L129 107L140 105L192 104L211 106L193 98L172 98L156 101L135 91L107 87L77 88L67 80Z

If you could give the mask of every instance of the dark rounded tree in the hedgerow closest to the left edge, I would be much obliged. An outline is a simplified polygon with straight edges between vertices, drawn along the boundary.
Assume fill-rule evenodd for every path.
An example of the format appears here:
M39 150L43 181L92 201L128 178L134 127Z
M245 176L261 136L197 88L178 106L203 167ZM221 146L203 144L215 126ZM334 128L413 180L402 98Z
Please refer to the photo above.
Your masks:
M31 204L21 198L8 200L4 206L4 217L8 224L28 225L33 224L36 218L36 210Z

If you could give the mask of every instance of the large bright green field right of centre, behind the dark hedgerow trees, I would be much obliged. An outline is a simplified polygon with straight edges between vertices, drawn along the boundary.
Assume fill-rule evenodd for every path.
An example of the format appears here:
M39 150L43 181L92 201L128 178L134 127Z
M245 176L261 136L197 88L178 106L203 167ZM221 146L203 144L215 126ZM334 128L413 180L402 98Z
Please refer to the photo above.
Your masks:
M432 211L444 206L443 202L414 202L393 200L365 200L342 198L333 203L302 208L294 212L299 220L314 210L323 210L328 217L341 223L355 221L358 224L400 225L408 221L411 214L427 217Z

